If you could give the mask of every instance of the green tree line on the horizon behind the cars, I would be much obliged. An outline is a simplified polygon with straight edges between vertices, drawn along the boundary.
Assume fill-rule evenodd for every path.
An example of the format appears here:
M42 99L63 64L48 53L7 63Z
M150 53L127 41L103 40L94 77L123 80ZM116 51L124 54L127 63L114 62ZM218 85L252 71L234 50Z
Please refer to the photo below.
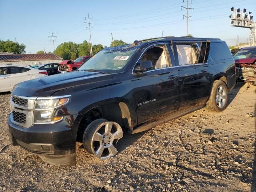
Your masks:
M121 46L125 45L126 42L122 40L114 40L111 42L110 46ZM98 51L106 48L107 46L103 46L102 44L92 45L92 52L93 54L97 53ZM14 54L24 54L26 45L19 44L18 42L13 42L11 40L0 40L0 52L8 52ZM44 54L43 50L36 52L37 54ZM52 53L52 52L48 52ZM55 49L54 54L60 56L64 60L75 60L80 56L90 55L90 42L84 41L82 43L74 43L74 42L64 42L57 46Z

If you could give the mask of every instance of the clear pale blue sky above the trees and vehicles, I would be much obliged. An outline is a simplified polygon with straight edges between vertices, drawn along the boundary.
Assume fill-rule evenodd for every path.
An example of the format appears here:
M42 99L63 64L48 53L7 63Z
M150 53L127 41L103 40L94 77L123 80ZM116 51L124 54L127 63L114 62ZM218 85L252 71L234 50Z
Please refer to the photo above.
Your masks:
M0 40L26 45L27 53L53 51L49 32L62 42L89 41L85 17L92 18L92 44L110 46L113 38L134 40L162 36L185 36L186 0L0 0ZM230 8L246 8L256 21L256 0L192 0L189 5L189 34L194 37L220 38L228 45L246 42L249 29L230 26ZM163 32L162 32L163 31Z

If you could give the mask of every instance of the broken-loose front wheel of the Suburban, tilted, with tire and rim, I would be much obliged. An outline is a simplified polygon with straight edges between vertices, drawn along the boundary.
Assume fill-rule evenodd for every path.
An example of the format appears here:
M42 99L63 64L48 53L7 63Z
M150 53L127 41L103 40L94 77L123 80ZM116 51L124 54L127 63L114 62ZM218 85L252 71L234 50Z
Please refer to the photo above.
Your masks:
M118 123L97 119L86 128L83 145L88 152L105 160L117 154L116 143L122 137L123 131Z

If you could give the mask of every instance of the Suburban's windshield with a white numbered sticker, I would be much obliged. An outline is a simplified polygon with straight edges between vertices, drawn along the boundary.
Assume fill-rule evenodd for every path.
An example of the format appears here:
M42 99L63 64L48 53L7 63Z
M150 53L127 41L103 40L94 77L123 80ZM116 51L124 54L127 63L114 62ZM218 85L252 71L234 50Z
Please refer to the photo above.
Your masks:
M120 70L137 48L131 45L106 48L92 56L78 70Z

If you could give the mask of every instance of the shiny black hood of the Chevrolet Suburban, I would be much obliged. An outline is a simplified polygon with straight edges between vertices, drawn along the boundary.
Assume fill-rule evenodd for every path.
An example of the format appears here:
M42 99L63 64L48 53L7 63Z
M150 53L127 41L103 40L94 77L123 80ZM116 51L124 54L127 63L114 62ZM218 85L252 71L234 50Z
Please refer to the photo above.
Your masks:
M104 83L113 77L114 74L87 71L56 74L16 84L12 94L27 97L51 96L54 92L62 89L84 86L100 81Z

